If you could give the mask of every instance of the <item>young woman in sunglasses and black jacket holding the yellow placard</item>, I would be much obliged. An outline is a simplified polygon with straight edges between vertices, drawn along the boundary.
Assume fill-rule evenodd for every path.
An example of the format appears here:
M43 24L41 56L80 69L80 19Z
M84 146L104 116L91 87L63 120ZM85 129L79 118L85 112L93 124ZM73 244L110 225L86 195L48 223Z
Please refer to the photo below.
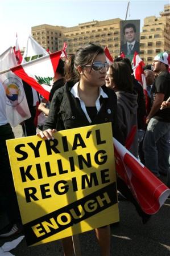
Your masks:
M117 97L105 84L109 65L101 46L89 43L74 56L77 83L68 82L53 95L44 131L39 136L52 139L53 132L111 122L113 136L121 141L117 118ZM74 74L73 74L74 76ZM72 79L71 79L72 80ZM75 81L75 76L73 78ZM110 256L110 227L96 229L102 256ZM72 256L71 238L63 239L65 256Z

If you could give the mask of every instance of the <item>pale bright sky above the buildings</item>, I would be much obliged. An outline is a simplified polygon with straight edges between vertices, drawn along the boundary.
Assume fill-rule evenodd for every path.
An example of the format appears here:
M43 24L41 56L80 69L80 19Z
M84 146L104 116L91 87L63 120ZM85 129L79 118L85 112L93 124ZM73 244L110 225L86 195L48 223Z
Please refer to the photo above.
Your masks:
M148 16L159 17L169 0L131 0L127 19L143 20ZM0 54L15 46L16 33L19 47L26 46L31 27L41 24L72 27L78 23L121 18L125 20L128 1L124 0L0 0Z

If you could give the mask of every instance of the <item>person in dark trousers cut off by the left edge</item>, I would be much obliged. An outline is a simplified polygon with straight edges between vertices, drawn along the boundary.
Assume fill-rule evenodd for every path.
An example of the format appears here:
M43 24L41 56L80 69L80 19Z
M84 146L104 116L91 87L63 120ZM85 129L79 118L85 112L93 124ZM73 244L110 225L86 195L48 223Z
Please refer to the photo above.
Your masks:
M0 214L5 213L9 224L0 226L0 238L10 237L22 230L16 200L13 176L10 168L6 140L14 139L14 133L6 116L6 94L0 83Z

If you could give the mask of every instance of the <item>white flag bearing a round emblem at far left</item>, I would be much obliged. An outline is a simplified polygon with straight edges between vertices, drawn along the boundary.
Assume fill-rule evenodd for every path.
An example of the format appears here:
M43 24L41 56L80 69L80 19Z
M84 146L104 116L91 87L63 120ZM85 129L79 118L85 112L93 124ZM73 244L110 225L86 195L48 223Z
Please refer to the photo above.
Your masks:
M6 114L12 127L31 117L22 80L10 71L16 65L13 47L10 47L0 55L0 81L5 88Z

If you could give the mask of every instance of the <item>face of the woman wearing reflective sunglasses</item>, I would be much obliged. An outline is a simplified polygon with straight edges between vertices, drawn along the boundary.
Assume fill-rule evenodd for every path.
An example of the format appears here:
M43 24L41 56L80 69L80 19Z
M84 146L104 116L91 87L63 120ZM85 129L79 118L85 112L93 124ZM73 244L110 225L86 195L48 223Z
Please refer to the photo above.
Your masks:
M103 86L108 67L105 54L98 54L93 64L88 63L82 67L81 80L89 86Z

